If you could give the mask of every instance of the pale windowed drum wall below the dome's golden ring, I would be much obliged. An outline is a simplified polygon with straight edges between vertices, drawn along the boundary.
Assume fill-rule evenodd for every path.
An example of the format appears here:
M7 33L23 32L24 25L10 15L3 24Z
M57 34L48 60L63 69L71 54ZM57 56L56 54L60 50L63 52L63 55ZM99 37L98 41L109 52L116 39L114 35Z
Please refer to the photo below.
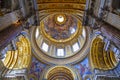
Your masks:
M36 32L38 32L38 28L36 29ZM86 41L86 36L85 36L86 34L85 34L84 28L83 28L83 32L82 34L84 34L84 37L79 36L78 39L76 39L76 41L71 42L69 45L62 44L62 46L57 46L57 45L52 44L51 42L46 41L42 37L40 38L38 37L38 39L36 39L36 42L38 45L41 45L39 48L44 54L50 57L53 57L53 58L67 58L67 57L77 54L83 47ZM52 51L49 50L51 49L51 47L54 47L55 49Z

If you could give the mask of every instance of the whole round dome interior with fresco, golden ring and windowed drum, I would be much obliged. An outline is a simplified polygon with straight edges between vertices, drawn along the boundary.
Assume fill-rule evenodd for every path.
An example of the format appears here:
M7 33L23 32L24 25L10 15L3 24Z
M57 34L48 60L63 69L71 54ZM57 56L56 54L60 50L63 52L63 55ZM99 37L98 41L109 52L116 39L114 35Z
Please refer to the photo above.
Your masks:
M57 19L63 17L63 22ZM55 58L70 57L84 46L86 29L68 14L53 14L43 19L33 33L42 53Z

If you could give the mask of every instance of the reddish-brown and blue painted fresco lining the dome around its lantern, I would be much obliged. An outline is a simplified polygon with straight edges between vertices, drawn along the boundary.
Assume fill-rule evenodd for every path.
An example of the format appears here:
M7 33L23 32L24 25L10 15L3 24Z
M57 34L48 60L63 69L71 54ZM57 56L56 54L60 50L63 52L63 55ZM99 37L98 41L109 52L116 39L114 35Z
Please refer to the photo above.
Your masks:
M59 24L58 21L54 20L55 15L45 19L45 32L53 39L67 39L76 32L77 19L69 15L65 16L66 20L63 21L63 24Z

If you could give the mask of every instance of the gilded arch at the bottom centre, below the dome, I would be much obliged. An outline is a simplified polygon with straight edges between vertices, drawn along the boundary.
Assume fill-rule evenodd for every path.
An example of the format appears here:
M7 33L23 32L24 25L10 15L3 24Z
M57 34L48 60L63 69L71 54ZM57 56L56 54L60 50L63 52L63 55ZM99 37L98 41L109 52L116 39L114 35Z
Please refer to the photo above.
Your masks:
M66 66L55 66L51 67L45 72L44 79L47 80L74 80L76 79L75 72L71 68Z

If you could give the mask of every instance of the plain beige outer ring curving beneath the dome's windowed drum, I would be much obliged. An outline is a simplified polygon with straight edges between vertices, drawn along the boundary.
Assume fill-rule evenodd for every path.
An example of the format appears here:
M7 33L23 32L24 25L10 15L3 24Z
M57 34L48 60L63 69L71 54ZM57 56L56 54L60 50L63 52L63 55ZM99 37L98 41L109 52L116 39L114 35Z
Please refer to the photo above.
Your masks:
M53 57L51 55L46 54L42 49L40 49L40 47L39 47L40 44L37 43L36 38L35 38L35 33L36 33L37 28L38 27L33 27L31 29L32 30L31 31L31 42L32 42L31 44L32 44L33 51L34 51L33 53L38 60L40 60L46 64L51 64L51 63L53 63L53 64L68 64L68 63L74 64L74 63L77 63L78 61L83 60L85 58L85 56L87 55L87 51L89 49L89 43L91 42L90 34L88 34L88 33L90 33L90 29L88 27L84 28L85 32L86 32L86 36L85 36L86 39L85 39L85 43L83 44L81 49L79 51L77 51L75 54L64 57L64 58ZM40 26L39 26L39 29L40 29ZM42 39L40 39L40 40L42 40ZM52 43L48 42L48 44L52 44ZM57 45L55 45L55 46L57 46Z

